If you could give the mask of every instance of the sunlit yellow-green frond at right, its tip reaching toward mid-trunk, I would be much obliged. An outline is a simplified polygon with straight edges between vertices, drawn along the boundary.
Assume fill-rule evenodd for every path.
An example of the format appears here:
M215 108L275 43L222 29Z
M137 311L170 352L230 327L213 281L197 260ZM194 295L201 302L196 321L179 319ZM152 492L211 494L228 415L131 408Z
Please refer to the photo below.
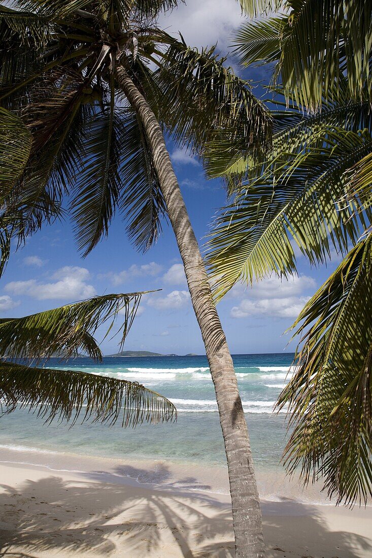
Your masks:
M319 128L293 142L293 152L280 148L263 174L262 167L252 169L252 179L218 217L207 244L217 295L239 280L294 273L291 240L312 264L326 261L332 244L346 252L367 221L355 214L355 204L340 203L344 173L371 150L367 131Z

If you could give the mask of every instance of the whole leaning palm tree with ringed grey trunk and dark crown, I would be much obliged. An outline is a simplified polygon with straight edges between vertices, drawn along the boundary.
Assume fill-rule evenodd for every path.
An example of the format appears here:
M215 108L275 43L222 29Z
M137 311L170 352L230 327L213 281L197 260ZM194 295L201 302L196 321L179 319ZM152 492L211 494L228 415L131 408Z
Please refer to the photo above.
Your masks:
M84 254L108 233L117 210L140 249L156 240L168 215L216 389L236 556L256 558L264 545L244 411L164 134L199 157L208 142L244 137L253 157L268 148L271 122L214 49L190 49L156 26L158 13L175 4L44 0L1 9L1 36L13 51L2 50L0 99L33 137L7 208L21 213L25 225L13 234L22 239L59 215L68 193Z

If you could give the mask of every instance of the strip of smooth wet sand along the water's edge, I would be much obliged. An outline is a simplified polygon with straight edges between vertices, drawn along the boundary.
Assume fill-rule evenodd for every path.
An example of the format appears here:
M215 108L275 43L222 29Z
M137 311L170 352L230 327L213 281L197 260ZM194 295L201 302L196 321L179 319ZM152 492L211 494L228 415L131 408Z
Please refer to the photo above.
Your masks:
M182 488L230 499L227 466L217 464L154 458L119 459L0 444L0 468L3 466L31 468L50 474L76 474L98 482L150 490ZM320 482L304 488L298 477L289 477L279 466L270 469L256 466L256 478L260 499L265 502L335 507L335 500L326 497ZM372 514L372 503L366 508Z

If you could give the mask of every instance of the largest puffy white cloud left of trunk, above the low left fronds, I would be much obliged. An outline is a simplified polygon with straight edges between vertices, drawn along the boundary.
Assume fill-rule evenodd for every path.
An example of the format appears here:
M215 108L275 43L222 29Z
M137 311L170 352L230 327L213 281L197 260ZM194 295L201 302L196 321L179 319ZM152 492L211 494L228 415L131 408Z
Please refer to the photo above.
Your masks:
M65 266L56 271L50 283L41 283L36 279L28 281L11 281L4 290L14 295L31 296L37 300L63 299L78 300L88 299L96 294L93 285L87 284L89 271L84 267Z

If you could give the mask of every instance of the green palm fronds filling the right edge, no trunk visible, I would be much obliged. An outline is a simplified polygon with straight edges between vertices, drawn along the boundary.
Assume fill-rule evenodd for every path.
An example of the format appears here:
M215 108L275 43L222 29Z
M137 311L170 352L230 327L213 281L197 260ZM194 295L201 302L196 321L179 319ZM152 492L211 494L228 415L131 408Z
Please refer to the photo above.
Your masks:
M274 7L242 3L251 13ZM239 143L212 146L209 172L227 174L238 191L216 222L209 262L223 296L239 280L295 273L293 243L312 264L332 246L345 255L293 326L297 370L278 405L289 403L293 427L288 470L301 465L305 483L323 477L329 496L354 504L372 494L372 6L284 7L289 15L246 23L237 35L245 64L274 65L271 89L289 110L273 113L274 148L261 164Z

